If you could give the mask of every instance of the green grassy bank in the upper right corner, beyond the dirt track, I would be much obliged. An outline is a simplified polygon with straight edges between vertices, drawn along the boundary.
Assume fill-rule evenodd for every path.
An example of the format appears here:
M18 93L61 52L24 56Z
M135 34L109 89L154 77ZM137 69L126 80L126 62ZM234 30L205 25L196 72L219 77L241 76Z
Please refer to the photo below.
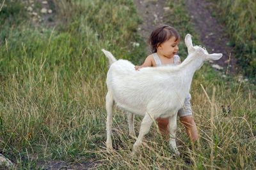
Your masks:
M216 1L216 12L226 26L234 55L247 76L256 74L256 3L253 0Z

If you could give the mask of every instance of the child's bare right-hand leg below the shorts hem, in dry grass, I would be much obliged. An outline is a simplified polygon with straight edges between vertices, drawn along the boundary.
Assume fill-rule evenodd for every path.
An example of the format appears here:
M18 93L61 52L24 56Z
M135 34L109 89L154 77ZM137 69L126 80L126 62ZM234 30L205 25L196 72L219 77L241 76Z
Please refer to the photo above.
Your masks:
M180 117L180 122L186 127L186 132L190 140L199 144L198 131L193 116Z

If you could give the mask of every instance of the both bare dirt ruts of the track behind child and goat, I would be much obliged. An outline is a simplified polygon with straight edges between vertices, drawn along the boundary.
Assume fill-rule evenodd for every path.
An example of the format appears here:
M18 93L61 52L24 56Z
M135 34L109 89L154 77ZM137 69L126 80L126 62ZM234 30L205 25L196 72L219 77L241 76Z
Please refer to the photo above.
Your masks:
M164 0L134 0L138 15L143 19L143 23L139 25L139 33L145 41L154 27L168 23L168 18L164 17L164 11L168 10L165 2ZM209 53L223 53L223 57L212 64L223 67L220 71L225 73L232 48L227 45L228 38L225 36L224 28L211 15L212 4L205 0L187 0L186 9L192 18L195 31L200 36L202 45L207 48ZM149 47L147 52L150 53ZM237 72L236 59L232 53L229 66L228 73Z

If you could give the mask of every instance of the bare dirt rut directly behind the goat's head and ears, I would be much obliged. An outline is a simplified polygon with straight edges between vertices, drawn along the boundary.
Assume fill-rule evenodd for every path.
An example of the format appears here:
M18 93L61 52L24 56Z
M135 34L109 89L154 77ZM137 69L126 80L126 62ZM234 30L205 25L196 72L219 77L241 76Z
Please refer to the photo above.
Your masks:
M223 53L220 60L214 61L224 69L227 68L230 55L229 73L237 73L236 58L232 55L232 48L228 46L228 37L224 32L225 27L220 25L211 13L213 4L205 0L188 0L186 9L195 24L195 30L200 35L200 41L208 49L209 53Z

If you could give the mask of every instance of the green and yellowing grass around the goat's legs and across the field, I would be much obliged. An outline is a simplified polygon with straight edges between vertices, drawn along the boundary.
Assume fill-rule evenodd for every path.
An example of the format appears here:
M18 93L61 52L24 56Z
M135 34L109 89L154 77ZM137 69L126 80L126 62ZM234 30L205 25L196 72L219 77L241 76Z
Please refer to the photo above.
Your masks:
M0 18L6 16L0 25L0 152L17 169L37 169L51 160L95 169L255 168L255 87L230 76L221 78L207 64L196 72L191 87L202 153L191 149L178 121L180 157L173 156L154 125L140 153L131 157L135 139L128 136L124 111L117 108L113 115L115 152L107 153L108 60L100 49L134 63L145 57L145 43L136 32L140 20L134 4L124 0L53 1L58 11L54 20L59 22L45 28L33 26L23 10L12 13L8 6L26 6L19 2L8 1L4 13L0 11ZM172 19L171 24L182 39L189 32L200 45L184 1L175 1L175 6L172 2L168 5L180 20ZM134 41L140 46L133 47ZM180 55L186 56L182 42ZM136 117L137 135L140 122L141 117Z

